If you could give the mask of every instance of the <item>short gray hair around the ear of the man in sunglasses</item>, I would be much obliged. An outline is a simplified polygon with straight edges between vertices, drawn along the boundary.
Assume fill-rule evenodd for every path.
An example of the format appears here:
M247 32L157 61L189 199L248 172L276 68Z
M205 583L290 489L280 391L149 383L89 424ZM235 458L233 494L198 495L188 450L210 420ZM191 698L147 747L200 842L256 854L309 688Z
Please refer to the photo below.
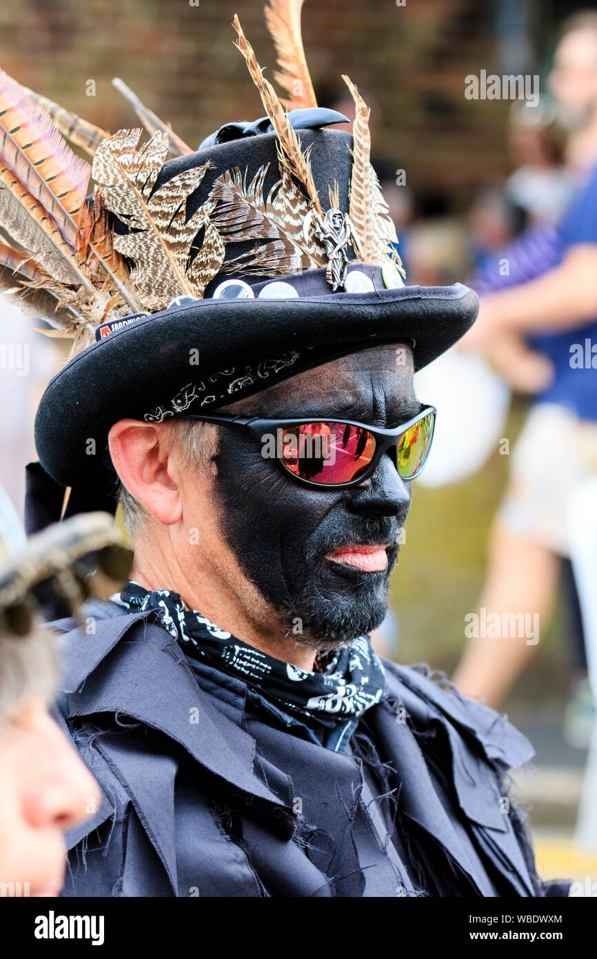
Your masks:
M218 427L213 423L186 419L171 420L166 426L168 452L177 447L183 466L193 466L197 473L206 475L211 458L218 449ZM131 539L143 535L150 518L149 510L135 499L122 482L119 499L123 507L126 532Z

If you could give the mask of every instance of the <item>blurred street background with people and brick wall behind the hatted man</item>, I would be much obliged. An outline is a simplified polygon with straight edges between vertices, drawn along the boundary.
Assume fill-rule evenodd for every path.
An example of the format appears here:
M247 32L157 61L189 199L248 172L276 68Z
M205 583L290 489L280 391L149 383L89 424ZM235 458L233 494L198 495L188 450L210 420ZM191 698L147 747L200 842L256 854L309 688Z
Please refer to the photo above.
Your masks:
M238 12L273 63L262 6L241 0ZM234 12L210 0L4 4L0 63L112 132L134 123L111 85L120 76L198 145L262 112L232 46ZM478 332L419 377L438 434L379 648L446 670L510 714L538 752L519 786L543 874L597 878L597 7L309 0L303 36L319 104L352 118L346 71L371 106L407 282L469 282L482 303ZM540 95L469 99L466 78L481 71L538 78ZM0 309L4 551L22 541L36 403L68 351L35 325ZM480 608L538 628L471 635Z

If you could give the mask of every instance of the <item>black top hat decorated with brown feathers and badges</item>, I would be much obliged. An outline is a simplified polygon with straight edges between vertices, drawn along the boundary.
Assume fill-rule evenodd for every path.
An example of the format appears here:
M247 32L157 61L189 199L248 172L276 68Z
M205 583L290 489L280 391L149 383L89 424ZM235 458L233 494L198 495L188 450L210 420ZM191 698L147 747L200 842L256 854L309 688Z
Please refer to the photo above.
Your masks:
M333 129L345 117L305 93L303 63L295 64L299 108L287 113L236 17L235 28L263 120L227 124L198 152L171 160L160 131L142 148L140 130L100 137L95 203L82 226L81 161L66 145L58 172L56 152L34 164L27 157L37 176L55 161L37 196L61 243L50 252L38 244L36 287L58 297L58 322L84 347L46 389L35 421L40 462L60 484L98 485L90 441L101 457L121 418L161 422L217 409L382 343L410 344L420 369L476 316L476 296L460 284L404 284L369 159L369 110L354 84L344 78L356 106L353 136ZM19 121L25 113L34 127L23 91L12 94ZM14 126L10 110L6 122Z

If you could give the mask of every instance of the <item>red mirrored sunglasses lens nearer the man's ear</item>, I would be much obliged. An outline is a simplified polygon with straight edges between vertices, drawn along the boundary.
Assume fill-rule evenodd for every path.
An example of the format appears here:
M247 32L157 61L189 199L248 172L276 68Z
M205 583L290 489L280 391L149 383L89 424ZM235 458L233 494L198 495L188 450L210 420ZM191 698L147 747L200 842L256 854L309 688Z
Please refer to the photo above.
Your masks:
M375 436L347 423L301 423L282 430L282 462L287 470L322 485L358 479L375 449Z

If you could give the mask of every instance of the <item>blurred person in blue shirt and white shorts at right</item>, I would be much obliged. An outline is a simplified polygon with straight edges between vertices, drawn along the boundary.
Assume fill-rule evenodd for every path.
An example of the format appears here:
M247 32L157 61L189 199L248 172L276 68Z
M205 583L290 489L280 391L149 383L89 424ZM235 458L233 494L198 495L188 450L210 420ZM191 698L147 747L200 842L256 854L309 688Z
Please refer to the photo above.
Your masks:
M486 266L479 319L463 341L533 396L480 606L487 616L537 615L543 631L569 554L567 504L597 476L597 12L566 21L550 87L577 191L556 229L528 231ZM471 639L454 682L495 706L534 648L524 636Z

